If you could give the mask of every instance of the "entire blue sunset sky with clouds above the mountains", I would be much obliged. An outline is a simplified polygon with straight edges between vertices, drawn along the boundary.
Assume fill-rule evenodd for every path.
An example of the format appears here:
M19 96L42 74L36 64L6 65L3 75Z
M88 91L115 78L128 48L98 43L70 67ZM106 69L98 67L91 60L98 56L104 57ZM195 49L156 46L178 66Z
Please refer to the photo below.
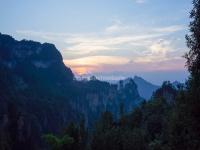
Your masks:
M191 0L0 0L0 32L55 44L76 75L184 82Z

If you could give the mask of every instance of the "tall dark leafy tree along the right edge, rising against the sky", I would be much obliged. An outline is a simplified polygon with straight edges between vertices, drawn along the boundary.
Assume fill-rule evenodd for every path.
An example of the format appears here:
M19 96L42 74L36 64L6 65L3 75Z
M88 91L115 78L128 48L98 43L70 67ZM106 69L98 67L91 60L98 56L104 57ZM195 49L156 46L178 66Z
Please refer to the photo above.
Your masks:
M193 0L190 18L190 33L186 35L190 50L185 57L191 76L187 91L182 91L176 98L170 120L172 150L200 149L200 0Z

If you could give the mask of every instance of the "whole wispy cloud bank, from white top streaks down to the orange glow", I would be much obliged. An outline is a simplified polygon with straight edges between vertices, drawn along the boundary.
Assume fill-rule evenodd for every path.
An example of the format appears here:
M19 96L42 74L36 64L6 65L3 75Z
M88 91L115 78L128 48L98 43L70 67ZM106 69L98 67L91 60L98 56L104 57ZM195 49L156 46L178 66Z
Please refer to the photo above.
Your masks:
M135 70L139 70L137 67L144 70L153 70L154 67L161 69L161 62L170 64L170 60L180 58L178 53L174 53L178 50L176 41L180 42L180 39L169 37L184 29L181 25L142 27L115 20L102 32L96 33L72 34L31 30L18 30L17 33L55 43L63 54L65 64L82 74L106 68L111 71L125 70L126 66Z

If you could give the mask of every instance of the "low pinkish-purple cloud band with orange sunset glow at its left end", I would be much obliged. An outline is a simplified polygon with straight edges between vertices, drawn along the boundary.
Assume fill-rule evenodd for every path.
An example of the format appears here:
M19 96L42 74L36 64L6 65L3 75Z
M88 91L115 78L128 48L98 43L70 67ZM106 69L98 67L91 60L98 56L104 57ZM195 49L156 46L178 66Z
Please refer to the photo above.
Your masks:
M68 64L68 62L66 62ZM156 72L156 71L175 71L184 70L185 60L183 58L171 58L162 61L141 63L128 62L122 64L101 64L101 65L75 65L72 66L73 72L77 74L113 74L114 72L138 73L138 72ZM84 70L84 72L82 71ZM81 73L80 73L81 72Z

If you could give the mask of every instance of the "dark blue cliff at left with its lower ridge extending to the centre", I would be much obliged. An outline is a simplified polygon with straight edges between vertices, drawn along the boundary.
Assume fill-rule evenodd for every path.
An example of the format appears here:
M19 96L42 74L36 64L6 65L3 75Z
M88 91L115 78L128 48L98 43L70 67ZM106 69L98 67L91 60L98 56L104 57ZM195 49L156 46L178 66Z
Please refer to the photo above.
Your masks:
M101 112L118 117L122 103L128 112L141 101L133 80L77 81L54 45L0 34L0 149L39 149L45 133L82 116L91 127Z

